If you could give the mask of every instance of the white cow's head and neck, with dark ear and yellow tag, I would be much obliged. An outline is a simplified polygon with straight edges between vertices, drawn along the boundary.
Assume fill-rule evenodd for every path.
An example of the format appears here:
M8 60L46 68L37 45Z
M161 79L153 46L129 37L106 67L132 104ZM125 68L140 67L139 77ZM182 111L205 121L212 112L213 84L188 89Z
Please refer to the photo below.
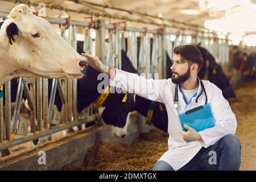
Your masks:
M47 20L18 5L0 30L0 67L3 84L14 77L80 78L88 64Z

